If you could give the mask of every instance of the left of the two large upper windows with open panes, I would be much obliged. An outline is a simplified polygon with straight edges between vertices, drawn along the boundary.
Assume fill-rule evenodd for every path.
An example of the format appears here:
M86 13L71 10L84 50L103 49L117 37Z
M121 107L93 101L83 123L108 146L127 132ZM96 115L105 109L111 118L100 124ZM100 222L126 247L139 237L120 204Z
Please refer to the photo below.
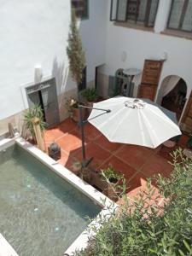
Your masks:
M154 26L159 0L111 0L111 20Z

